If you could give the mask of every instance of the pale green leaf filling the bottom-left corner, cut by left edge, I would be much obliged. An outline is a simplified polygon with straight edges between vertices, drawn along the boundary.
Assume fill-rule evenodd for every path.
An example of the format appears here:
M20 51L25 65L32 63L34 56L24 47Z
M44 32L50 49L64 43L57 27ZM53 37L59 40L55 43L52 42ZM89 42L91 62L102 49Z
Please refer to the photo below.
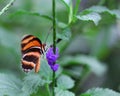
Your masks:
M16 96L21 93L22 82L13 75L0 73L0 96Z

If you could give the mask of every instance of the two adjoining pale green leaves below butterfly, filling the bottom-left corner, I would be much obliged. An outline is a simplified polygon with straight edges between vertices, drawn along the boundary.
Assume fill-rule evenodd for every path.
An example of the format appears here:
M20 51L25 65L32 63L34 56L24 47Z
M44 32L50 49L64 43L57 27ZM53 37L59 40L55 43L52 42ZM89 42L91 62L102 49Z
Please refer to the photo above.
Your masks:
M28 74L23 81L10 74L0 74L0 96L30 96L45 81L38 74Z

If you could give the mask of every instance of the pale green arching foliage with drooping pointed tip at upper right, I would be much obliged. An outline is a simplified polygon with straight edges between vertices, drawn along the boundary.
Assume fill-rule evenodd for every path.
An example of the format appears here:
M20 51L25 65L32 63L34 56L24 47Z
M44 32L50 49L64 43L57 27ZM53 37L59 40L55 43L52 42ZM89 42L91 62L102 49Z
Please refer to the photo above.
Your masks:
M99 21L102 19L99 13L107 12L113 16L116 16L120 19L120 11L118 10L109 10L104 6L92 6L82 12L76 17L83 21L93 21L96 25L98 25Z

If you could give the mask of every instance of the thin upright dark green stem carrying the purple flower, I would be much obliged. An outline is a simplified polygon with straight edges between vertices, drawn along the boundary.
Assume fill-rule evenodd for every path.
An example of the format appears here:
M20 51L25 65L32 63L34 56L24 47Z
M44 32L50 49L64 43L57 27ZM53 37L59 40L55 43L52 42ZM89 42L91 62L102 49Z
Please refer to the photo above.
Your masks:
M53 52L56 53L56 13L55 13L55 0L52 0L52 13L53 13ZM55 62L54 62L55 64ZM53 71L53 86L52 86L52 93L55 96L55 72Z

